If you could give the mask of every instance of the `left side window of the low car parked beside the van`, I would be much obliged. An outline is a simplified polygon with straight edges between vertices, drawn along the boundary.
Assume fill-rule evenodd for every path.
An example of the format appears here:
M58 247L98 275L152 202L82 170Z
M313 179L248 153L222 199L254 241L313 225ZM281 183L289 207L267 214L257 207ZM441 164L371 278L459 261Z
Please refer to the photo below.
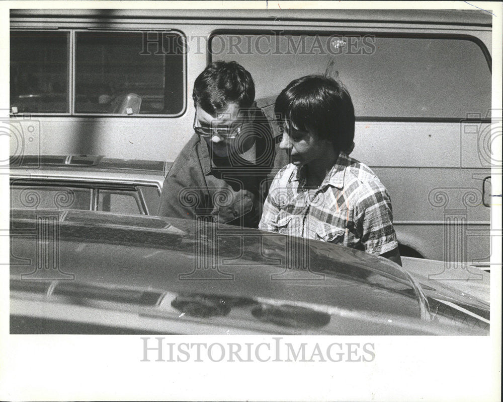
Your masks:
M90 210L91 189L14 185L11 187L11 208Z

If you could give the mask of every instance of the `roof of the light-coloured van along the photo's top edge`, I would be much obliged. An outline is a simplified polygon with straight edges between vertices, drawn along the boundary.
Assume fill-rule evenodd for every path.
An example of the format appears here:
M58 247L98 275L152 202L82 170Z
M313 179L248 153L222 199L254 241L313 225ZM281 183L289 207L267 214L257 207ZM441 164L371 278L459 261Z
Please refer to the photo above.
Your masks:
M92 13L92 15L91 15ZM11 10L11 18L25 16L47 18L87 17L111 18L158 18L191 20L271 20L280 21L333 21L333 22L379 22L411 24L446 24L491 26L492 15L485 10Z

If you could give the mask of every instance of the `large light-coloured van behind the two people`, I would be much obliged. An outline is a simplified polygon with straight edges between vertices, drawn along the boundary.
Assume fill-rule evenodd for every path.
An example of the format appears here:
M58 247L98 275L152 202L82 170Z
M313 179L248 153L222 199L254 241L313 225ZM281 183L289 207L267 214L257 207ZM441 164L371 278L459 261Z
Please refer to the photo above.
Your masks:
M10 17L11 154L173 161L193 135L192 84L210 61L242 64L270 118L290 81L329 74L353 98L352 156L388 189L401 254L443 260L446 269L453 261L488 265L490 14L11 10Z

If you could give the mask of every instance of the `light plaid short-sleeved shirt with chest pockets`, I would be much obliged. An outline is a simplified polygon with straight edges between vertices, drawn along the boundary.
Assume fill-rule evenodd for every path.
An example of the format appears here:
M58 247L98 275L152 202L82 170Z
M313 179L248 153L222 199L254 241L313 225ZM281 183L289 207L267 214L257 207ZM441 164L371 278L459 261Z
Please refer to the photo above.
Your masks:
M274 178L259 229L338 243L380 255L398 246L391 201L375 173L340 153L318 188L289 164Z

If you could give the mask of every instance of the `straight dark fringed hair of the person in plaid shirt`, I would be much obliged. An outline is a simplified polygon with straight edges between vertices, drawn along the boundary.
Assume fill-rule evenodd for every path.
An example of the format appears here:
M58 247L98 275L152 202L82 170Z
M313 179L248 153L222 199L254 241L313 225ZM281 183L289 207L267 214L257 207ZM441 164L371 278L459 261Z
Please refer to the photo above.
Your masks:
M306 76L281 91L276 116L299 130L329 140L338 151L350 149L355 138L355 108L344 85L326 76Z

